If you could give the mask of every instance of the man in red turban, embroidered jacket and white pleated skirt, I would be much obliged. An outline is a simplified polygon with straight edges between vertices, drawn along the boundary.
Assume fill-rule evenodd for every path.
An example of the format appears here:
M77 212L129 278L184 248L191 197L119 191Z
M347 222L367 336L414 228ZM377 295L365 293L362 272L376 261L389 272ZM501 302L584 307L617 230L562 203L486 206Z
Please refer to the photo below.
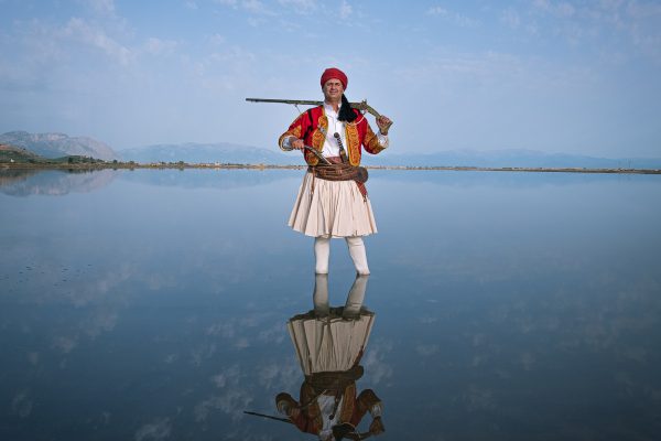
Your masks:
M330 163L357 168L361 149L376 154L388 148L388 128L392 123L380 116L377 118L379 132L375 133L365 116L350 107L344 95L347 84L347 76L338 68L324 71L321 78L323 106L301 114L279 140L282 150L303 150L310 165L289 226L315 238L315 272L321 275L328 273L333 237L346 239L356 271L369 275L362 236L377 233L377 225L364 182L327 180L315 170L319 158L304 148L312 147Z

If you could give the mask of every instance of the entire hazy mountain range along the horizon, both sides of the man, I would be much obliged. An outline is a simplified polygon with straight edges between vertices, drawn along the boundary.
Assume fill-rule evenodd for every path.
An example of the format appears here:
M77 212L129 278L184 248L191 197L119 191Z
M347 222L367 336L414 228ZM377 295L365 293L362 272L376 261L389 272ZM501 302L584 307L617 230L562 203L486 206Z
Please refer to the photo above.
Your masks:
M122 160L139 163L184 161L224 164L303 164L303 158L299 152L283 153L277 148L263 149L228 142L156 144L115 151L91 138L68 137L64 133L12 131L0 135L0 144L18 147L15 154L34 153L45 158L83 155L106 161ZM6 150L9 151L8 146ZM397 148L392 148L378 155L364 154L364 163L404 166L661 169L661 158L608 159L513 149L446 150L432 153L397 153ZM6 152L6 154L10 153Z

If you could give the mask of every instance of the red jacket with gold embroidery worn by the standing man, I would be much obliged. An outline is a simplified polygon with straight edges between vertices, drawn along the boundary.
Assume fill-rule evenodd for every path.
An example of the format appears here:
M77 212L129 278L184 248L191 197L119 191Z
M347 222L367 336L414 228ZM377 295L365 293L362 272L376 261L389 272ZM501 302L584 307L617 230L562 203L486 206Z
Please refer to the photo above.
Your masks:
M371 127L367 122L367 118L358 110L354 109L358 116L354 122L345 122L345 136L347 139L347 155L349 157L349 163L351 165L360 165L360 157L362 154L361 147L368 153L379 153L383 148L379 144L379 139L372 131ZM314 123L311 125L310 115L312 114L312 120ZM278 140L278 144L282 148L282 141L286 137L296 137L303 139L305 146L311 146L317 151L324 150L324 133L319 130L319 127L327 132L328 130L328 118L324 111L324 106L318 106L304 111L299 115L299 118L291 123L289 129L282 133ZM308 151L303 151L305 162L310 165L316 165L318 159Z

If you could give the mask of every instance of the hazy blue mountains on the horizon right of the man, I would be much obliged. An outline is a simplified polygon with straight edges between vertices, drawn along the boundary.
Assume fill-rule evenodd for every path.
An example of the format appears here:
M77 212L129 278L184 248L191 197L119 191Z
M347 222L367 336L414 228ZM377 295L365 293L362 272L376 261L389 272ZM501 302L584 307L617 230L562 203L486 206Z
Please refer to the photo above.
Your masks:
M659 158L608 159L514 149L497 151L446 150L427 154L403 154L387 151L376 157L364 154L362 158L364 162L369 165L661 169L661 159Z

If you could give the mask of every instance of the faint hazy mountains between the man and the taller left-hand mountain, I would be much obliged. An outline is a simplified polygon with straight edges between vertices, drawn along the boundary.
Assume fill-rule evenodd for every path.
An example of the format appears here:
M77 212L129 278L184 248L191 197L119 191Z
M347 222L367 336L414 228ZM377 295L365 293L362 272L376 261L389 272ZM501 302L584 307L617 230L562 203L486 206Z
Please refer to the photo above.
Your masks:
M284 154L280 150L239 146L228 142L156 144L121 150L124 161L140 163L177 162L234 164L300 164L301 153Z

